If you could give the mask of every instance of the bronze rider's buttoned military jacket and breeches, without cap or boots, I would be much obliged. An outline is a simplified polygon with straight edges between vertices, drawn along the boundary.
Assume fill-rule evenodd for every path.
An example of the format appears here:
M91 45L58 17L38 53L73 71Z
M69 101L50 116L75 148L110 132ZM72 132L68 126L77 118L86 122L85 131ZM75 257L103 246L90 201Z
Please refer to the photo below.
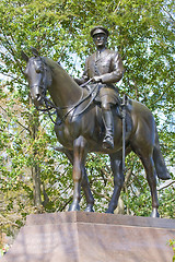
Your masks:
M81 83L86 82L94 76L101 76L102 82L100 85L100 99L102 107L106 108L106 104L118 103L118 88L114 83L122 78L124 67L122 61L117 51L104 49L94 52L85 61L85 70L81 79Z

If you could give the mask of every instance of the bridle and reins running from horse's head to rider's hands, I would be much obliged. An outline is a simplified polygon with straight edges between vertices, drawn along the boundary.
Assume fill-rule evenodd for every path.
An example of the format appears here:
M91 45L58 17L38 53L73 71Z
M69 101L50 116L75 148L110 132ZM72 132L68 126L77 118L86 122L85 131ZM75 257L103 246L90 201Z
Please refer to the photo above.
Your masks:
M81 104L83 104L85 100L88 100L91 97L91 99L88 103L88 105L80 112L74 114L72 117L78 117L79 115L83 114L90 107L91 103L94 100L94 98L96 97L96 95L98 93L98 84L96 84L91 90L91 92L85 97L83 97L84 96L83 87L92 82L92 79L90 79L88 82L85 82L84 84L80 85L82 87L82 94L81 94L80 99L74 105L65 106L65 107L58 107L46 96L47 87L51 84L51 70L46 64L44 58L42 58L42 57L39 57L39 58L40 58L42 67L43 67L42 71L44 72L44 76L43 78L45 79L45 81L42 78L42 82L43 83L39 84L39 85L37 85L37 84L32 85L31 90L35 88L37 86L37 87L39 87L43 91L42 92L43 93L43 97L42 98L43 98L45 108L38 108L37 106L35 106L35 107L36 107L36 109L38 111L47 112L52 123L55 123L57 126L60 126L60 124L62 124L65 122L65 120L70 115L70 112L74 111L75 108L78 108ZM47 71L48 71L49 75L47 75L48 74ZM47 82L46 80L47 80L48 76L50 78L50 80L49 80L49 83L46 83ZM55 109L54 112L51 112L52 109ZM65 109L68 109L68 111L62 117L58 117L58 115L59 115L58 112L62 111ZM52 118L54 115L57 115L57 120L56 121Z

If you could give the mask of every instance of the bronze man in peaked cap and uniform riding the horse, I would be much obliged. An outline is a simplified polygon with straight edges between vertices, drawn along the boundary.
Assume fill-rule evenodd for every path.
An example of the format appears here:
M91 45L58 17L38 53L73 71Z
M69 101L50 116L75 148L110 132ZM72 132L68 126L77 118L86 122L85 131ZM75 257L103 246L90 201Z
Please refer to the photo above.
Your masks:
M81 85L92 79L94 84L98 84L98 97L106 132L103 145L106 148L113 148L114 123L112 107L119 104L118 88L114 83L117 83L122 78L124 66L119 53L106 48L108 35L109 32L103 26L96 26L91 31L97 50L86 59L84 73L81 79L75 79L75 82ZM91 88L94 84L91 84Z

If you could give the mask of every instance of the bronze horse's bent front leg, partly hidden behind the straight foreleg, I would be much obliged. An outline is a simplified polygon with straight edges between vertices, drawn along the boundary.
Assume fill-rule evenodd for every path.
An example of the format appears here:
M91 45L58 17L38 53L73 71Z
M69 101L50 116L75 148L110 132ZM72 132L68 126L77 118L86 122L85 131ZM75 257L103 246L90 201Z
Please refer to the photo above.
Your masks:
M73 165L73 151L69 150L63 150L65 154L69 158L70 163ZM94 212L93 211L93 205L94 205L94 198L92 195L91 189L90 189L90 183L89 183L89 178L86 175L85 167L82 167L82 182L81 182L82 189L84 191L85 200L86 200L86 209L85 212Z

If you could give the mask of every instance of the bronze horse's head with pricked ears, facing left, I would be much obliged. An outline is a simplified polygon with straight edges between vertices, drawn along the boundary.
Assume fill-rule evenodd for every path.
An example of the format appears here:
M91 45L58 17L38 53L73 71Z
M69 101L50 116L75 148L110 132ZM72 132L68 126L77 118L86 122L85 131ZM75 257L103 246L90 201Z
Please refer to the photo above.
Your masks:
M24 74L30 84L31 96L36 107L44 105L44 97L47 87L51 84L50 70L48 70L44 58L39 57L38 51L32 48L34 57L28 58L22 51L22 58L26 61Z

